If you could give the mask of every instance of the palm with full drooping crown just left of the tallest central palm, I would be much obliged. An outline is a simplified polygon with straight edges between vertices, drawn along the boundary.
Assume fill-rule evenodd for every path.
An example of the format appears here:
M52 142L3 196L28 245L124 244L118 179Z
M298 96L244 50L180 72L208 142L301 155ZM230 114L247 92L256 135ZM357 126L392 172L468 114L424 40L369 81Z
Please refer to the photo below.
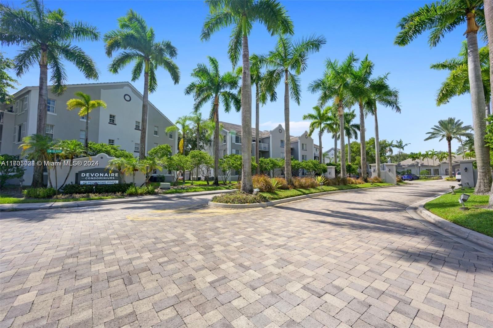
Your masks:
M241 100L235 91L238 89L239 76L232 72L226 72L220 74L219 63L214 57L208 56L209 65L199 64L193 69L191 76L196 80L191 82L185 88L185 95L194 95L195 103L193 105L194 111L198 111L206 102L212 101L211 112L209 119L214 121L214 185L219 185L218 172L219 172L219 103L222 102L224 111L229 113L231 106L236 111L241 108ZM243 121L242 121L243 122ZM248 132L251 138L251 129ZM246 140L245 140L246 139ZM243 144L247 141L242 134L242 149ZM250 142L251 143L251 142ZM251 148L251 144L250 144ZM251 149L250 153L251 154ZM249 157L249 156L244 156ZM250 159L251 160L251 159ZM251 166L251 164L250 164ZM250 172L251 174L251 172ZM243 186L243 182L242 182Z

